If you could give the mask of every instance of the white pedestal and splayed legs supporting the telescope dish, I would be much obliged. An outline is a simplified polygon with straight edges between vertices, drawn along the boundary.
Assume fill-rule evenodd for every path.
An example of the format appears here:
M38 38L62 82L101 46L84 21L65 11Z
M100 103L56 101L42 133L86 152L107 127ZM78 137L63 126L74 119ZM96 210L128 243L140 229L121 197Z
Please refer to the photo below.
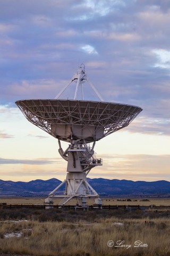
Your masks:
M101 204L99 195L87 182L87 174L98 165L102 165L102 159L96 158L94 155L94 146L92 148L87 145L86 141L73 141L70 146L63 151L60 140L58 140L61 156L68 161L66 179L54 189L45 200L47 206L52 205L53 197L62 198L60 205L64 205L72 198L77 198L79 204L86 206L86 198L94 198L96 204ZM56 195L56 191L65 183L65 193Z

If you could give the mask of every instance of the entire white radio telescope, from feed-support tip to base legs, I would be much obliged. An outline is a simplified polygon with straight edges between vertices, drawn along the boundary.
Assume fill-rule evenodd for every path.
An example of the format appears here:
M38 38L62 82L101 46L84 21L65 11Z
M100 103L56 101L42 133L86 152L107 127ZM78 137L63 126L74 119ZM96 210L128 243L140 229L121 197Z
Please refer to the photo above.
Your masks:
M72 82L76 82L74 99L58 99ZM99 101L84 100L83 86L86 82ZM77 100L79 90L82 100ZM65 205L72 198L79 199L82 206L86 205L87 198L94 198L95 204L102 204L98 193L87 181L90 170L103 165L102 159L95 156L95 143L128 126L142 109L104 102L91 83L83 64L55 99L18 100L15 103L28 121L58 139L58 151L67 161L66 179L46 198L46 206L53 205L54 197L61 198L60 205ZM69 143L65 150L61 141ZM64 195L57 194L64 183Z

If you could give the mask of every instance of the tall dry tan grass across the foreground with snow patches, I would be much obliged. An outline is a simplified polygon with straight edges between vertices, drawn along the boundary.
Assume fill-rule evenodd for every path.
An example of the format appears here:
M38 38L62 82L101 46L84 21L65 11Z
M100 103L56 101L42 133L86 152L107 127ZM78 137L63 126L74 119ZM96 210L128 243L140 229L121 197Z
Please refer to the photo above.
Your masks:
M168 217L160 218L155 215L153 218L138 213L135 218L132 214L122 218L114 216L113 211L102 210L46 211L44 215L54 213L63 214L65 220L33 220L36 217L35 212L28 214L28 221L1 220L0 252L41 256L170 255ZM118 225L118 222L123 222L123 225ZM4 238L6 233L19 231L22 231L21 237ZM108 247L107 242L111 240L114 245L117 241L125 241L125 245L132 246L129 249ZM135 241L141 241L148 247L133 247Z

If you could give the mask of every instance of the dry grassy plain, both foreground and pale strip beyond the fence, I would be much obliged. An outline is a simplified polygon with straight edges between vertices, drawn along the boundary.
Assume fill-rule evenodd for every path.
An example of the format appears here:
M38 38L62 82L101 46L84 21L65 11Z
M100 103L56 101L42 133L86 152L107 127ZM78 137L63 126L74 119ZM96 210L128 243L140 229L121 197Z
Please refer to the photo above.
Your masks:
M110 204L131 203L105 199ZM0 255L170 255L169 210L44 210L24 207L28 202L43 204L43 198L1 198L4 202L23 207L0 209ZM169 199L140 203L168 206Z

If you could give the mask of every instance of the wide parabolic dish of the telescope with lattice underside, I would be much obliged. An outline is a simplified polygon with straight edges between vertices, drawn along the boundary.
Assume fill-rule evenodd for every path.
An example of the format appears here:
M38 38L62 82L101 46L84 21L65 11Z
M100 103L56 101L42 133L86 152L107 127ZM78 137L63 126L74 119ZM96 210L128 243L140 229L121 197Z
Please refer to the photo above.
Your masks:
M92 142L128 126L142 111L120 103L84 100L18 100L25 117L57 139Z

